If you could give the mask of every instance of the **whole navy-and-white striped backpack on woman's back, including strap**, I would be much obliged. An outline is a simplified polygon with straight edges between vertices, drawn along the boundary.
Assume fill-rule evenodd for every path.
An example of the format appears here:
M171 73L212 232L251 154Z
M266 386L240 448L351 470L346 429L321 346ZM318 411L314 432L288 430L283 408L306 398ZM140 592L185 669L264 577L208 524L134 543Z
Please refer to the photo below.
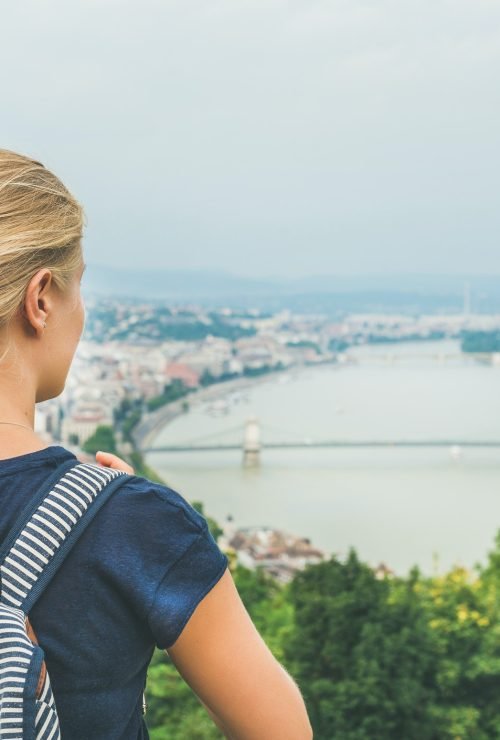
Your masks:
M131 476L65 460L0 548L0 739L60 740L59 719L28 613L101 506Z

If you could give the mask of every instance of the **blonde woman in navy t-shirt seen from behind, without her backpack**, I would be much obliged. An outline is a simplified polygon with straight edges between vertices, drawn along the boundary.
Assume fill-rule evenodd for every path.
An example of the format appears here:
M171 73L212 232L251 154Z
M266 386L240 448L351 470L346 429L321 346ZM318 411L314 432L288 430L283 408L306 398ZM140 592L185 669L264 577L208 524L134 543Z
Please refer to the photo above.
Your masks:
M35 404L63 391L84 327L82 225L51 172L0 150L0 542L75 457L33 426ZM133 473L114 455L96 457ZM166 486L132 476L118 489L30 621L66 740L148 736L141 700L155 645L226 737L312 737L300 691L253 625L205 518Z

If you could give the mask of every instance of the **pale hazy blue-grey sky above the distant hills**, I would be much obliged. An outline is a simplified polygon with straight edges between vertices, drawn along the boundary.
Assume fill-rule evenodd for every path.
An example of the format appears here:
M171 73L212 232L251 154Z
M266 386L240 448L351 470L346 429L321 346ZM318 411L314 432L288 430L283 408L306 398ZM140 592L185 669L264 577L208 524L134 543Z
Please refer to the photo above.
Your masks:
M500 275L498 0L2 4L0 146L89 262Z

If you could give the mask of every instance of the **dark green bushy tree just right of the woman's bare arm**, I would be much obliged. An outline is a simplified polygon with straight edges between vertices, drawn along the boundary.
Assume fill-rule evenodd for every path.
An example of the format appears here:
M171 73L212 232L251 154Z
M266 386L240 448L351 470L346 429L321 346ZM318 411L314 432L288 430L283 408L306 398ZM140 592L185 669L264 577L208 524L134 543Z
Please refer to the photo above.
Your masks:
M316 740L437 740L433 635L415 580L379 580L351 549L345 563L307 566L291 582L285 657Z

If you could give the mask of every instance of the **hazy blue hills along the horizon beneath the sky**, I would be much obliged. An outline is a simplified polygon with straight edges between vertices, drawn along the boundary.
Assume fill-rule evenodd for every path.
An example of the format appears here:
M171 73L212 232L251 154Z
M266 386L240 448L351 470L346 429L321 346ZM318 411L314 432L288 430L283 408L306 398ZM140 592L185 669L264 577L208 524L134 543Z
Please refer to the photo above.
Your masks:
M221 270L127 269L90 263L84 295L304 313L456 313L470 286L475 312L500 312L500 276L309 275L251 278Z

